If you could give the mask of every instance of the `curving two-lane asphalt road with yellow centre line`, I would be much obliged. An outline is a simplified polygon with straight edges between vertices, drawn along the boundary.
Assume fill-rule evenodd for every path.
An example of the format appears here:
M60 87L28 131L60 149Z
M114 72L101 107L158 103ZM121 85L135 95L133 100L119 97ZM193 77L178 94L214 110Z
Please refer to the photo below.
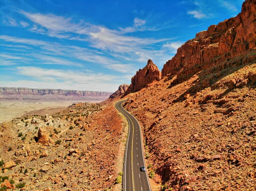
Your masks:
M151 191L147 171L140 171L140 167L145 166L140 125L137 119L122 107L124 102L125 100L116 103L116 109L127 118L129 123L125 148L123 189L124 191Z

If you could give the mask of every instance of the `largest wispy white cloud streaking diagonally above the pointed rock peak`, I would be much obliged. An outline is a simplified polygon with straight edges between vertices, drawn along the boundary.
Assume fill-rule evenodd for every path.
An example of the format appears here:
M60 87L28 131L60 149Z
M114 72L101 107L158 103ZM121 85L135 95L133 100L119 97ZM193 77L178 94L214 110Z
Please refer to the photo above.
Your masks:
M143 52L151 46L160 46L159 43L170 39L139 38L124 35L137 30L154 30L144 28L145 20L135 18L134 25L119 30L108 29L105 26L93 25L80 20L76 23L72 18L61 17L54 14L39 14L20 11L35 23L30 31L47 34L50 37L66 38L88 42L90 47L108 51L108 54L118 53L120 56L132 57L137 51ZM38 26L41 26L40 28ZM140 55L137 55L140 57ZM134 60L141 60L134 59ZM146 59L147 60L147 59ZM146 62L146 60L144 60Z

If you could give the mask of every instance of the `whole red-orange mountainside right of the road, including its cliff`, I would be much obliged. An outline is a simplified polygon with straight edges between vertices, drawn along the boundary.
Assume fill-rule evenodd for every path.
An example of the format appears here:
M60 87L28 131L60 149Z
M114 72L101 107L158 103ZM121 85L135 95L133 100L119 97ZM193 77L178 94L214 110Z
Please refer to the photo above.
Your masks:
M256 1L178 48L128 94L157 190L256 190ZM135 84L136 86L136 84Z

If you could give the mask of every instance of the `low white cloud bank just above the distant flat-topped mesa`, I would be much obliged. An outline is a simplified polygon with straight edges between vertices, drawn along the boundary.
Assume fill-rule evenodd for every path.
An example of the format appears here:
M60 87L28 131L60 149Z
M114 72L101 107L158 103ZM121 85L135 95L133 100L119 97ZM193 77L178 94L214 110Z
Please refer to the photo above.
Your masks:
M60 88L114 92L124 79L123 77L106 74L44 69L31 66L17 67L16 73L31 77L32 80L3 81L1 85L5 87Z

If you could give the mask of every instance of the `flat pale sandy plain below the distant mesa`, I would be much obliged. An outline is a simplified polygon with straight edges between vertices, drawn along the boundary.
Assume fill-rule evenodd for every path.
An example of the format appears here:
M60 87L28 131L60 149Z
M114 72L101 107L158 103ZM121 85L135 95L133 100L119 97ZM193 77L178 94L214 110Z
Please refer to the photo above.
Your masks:
M0 123L10 121L24 115L55 114L66 109L73 103L86 102L85 100L73 100L64 102L0 102Z

